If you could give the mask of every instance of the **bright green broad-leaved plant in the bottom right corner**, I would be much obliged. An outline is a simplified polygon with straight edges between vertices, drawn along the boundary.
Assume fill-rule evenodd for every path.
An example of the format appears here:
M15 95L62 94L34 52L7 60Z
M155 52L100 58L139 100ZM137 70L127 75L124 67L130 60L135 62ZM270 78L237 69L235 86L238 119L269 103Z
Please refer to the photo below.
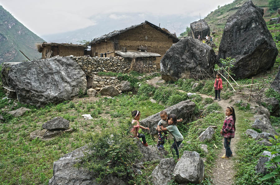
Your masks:
M275 139L271 137L269 141L271 142L272 146L265 146L267 148L267 151L271 153L271 155L265 155L264 157L269 157L270 160L265 162L266 168L270 170L270 173L266 174L261 180L266 179L273 179L274 184L280 184L280 165L278 164L280 162L280 137L274 136ZM274 155L274 156L273 156Z

